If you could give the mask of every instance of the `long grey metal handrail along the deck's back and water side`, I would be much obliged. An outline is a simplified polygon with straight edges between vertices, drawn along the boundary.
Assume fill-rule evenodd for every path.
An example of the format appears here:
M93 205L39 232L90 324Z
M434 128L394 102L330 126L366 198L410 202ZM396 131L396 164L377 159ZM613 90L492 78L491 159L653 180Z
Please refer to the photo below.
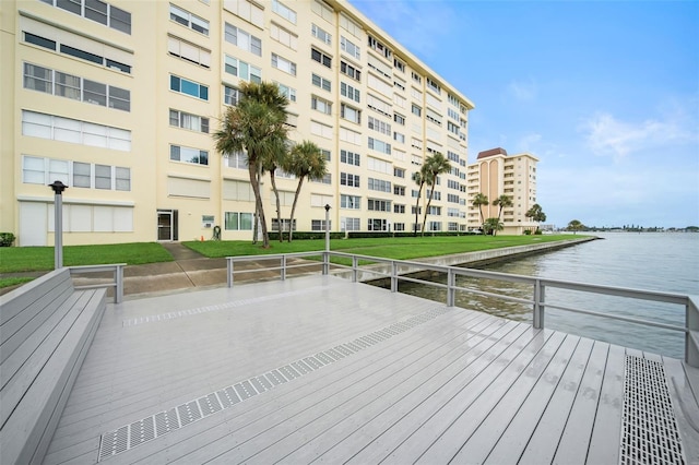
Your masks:
M645 290L645 289L633 289L633 288L616 287L616 286L604 286L604 285L577 283L577 282L568 282L568 281L560 281L560 279L540 278L540 277L514 275L514 274L490 272L490 271L483 271L483 270L463 269L459 266L437 265L433 263L424 263L418 261L393 260L393 259L384 259L380 257L362 255L362 254L355 254L355 253L333 252L328 250L315 251L315 252L294 252L294 253L272 254L272 255L228 257L226 258L227 272L228 272L228 279L227 279L228 287L233 287L234 272L245 273L245 272L280 270L281 278L285 279L287 269L307 266L306 264L287 265L286 264L287 259L288 258L307 258L307 257L322 257L322 274L329 274L330 266L332 265L335 269L335 271L351 270L353 282L359 281L359 273L366 273L375 276L390 278L391 291L393 293L398 291L398 284L401 281L412 282L417 284L425 284L428 286L447 289L447 305L450 307L453 307L455 305L454 296L457 291L466 291L466 293L472 293L472 294L482 295L482 296L495 297L502 300L531 305L533 309L533 326L536 329L544 327L545 310L548 308L548 309L570 311L574 313L602 317L611 320L643 324L643 325L661 327L665 330L678 331L685 334L685 361L689 366L699 367L699 297L692 297L688 295L662 293L662 291ZM350 266L345 264L331 263L330 262L331 257L351 259L352 265ZM274 267L262 267L262 269L256 269L250 271L234 270L234 263L236 262L246 262L246 261L253 261L253 260L259 261L261 259L279 260L280 265ZM370 262L372 264L359 266L359 261ZM380 266L386 266L386 269L380 269ZM447 274L447 277L448 277L447 284L435 283L427 279L420 279L414 276L407 276L407 274L410 273L415 273L420 271L433 271L438 273L445 273ZM500 294L472 289L463 286L457 286L455 284L457 276L467 276L467 277L475 277L475 278L482 278L482 279L496 279L496 281L503 281L509 283L522 283L522 284L531 285L533 288L533 298L529 300L529 299L522 299L518 297L511 297L511 296L505 296ZM657 323L657 322L643 320L643 319L620 317L620 315L614 315L609 313L596 312L592 310L579 309L579 308L567 307L561 305L555 305L555 303L547 303L545 299L546 288L559 288L559 289L574 290L574 291L581 291L581 293L592 293L597 295L607 295L607 296L684 306L685 307L685 326Z

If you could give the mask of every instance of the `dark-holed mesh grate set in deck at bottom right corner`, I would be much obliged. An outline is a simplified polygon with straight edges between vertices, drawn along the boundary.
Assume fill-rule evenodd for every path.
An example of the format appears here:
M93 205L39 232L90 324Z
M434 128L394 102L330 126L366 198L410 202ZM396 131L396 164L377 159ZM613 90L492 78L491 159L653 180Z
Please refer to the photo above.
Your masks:
M626 356L619 463L685 463L665 369L657 361Z

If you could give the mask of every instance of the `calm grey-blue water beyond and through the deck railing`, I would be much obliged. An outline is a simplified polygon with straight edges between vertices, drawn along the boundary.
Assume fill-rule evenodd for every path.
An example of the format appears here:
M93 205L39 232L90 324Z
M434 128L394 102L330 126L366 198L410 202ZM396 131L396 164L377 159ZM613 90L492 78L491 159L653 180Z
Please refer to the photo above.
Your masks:
M699 295L699 234L597 234L594 240L564 250L483 266L483 270L526 276L592 283L636 289ZM436 278L441 281L441 278ZM443 282L443 281L442 281ZM459 285L531 299L532 287L463 278ZM401 291L446 301L431 286L402 283ZM546 300L568 307L684 325L680 306L572 293L547 288ZM459 307L531 322L531 306L458 293ZM565 303L562 303L565 302ZM561 310L547 310L546 327L672 357L684 357L679 332L625 323Z

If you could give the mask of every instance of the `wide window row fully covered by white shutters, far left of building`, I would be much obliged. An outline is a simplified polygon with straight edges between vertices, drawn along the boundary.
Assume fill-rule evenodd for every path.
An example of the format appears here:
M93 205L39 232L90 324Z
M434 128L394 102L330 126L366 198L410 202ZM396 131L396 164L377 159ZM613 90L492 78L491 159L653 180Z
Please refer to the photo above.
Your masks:
M22 134L121 152L131 151L131 131L35 111L22 110Z

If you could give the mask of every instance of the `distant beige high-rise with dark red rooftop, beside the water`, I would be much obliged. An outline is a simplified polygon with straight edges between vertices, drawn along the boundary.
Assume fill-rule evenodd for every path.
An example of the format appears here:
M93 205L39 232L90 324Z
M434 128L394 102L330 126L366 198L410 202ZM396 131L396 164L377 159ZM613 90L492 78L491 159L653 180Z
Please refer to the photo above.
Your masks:
M500 214L505 227L502 234L521 235L524 230L535 230L538 223L528 218L526 212L536 203L536 164L538 158L530 153L508 155L505 148L491 148L478 153L475 163L466 169L467 228L481 228L481 210L473 205L476 194L488 198L489 204L483 205L483 218L497 217L500 211L494 205L500 195L508 195L512 206Z

